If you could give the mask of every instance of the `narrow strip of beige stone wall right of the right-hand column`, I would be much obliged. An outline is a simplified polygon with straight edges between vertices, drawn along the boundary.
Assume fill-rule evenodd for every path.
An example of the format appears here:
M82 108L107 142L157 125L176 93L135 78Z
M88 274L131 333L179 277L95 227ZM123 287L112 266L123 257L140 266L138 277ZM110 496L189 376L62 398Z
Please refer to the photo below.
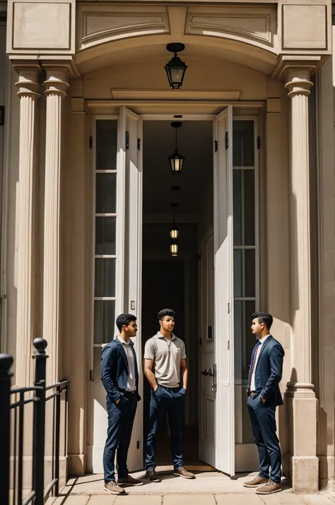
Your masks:
M319 75L319 310L318 354L315 381L319 398L317 454L320 483L334 482L334 306L335 306L335 175L334 175L334 72L327 62Z

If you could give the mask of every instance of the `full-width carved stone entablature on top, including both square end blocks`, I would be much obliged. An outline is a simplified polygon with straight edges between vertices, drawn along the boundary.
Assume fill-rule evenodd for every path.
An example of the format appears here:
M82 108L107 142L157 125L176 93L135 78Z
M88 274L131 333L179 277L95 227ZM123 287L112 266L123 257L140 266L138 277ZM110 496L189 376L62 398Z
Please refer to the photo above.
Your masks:
M272 54L330 54L331 2L163 3L8 1L7 52L69 57L88 48L146 35L233 40ZM135 42L134 42L135 43Z

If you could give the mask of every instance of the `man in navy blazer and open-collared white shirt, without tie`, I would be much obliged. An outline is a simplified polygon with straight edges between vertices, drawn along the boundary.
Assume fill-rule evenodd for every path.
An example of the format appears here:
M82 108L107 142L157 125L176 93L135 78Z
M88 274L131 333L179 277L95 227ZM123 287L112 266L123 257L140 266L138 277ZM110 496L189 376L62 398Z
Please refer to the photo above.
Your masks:
M136 414L139 395L139 369L137 367L134 344L136 337L136 317L120 314L116 320L119 336L107 344L101 352L101 380L107 392L108 430L103 465L105 491L111 494L125 494L121 485L140 486L141 480L129 475L127 455ZM115 480L114 459L117 451L117 482ZM120 485L121 484L121 485Z

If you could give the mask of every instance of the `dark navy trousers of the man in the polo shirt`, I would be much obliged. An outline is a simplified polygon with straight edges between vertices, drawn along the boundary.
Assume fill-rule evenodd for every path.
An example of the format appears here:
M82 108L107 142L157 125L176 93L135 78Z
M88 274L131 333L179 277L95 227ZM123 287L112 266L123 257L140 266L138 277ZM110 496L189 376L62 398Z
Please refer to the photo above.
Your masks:
M146 470L155 468L155 439L166 412L170 424L173 467L175 470L182 467L184 395L184 388L165 388L160 385L155 393L151 390L149 431L146 440Z

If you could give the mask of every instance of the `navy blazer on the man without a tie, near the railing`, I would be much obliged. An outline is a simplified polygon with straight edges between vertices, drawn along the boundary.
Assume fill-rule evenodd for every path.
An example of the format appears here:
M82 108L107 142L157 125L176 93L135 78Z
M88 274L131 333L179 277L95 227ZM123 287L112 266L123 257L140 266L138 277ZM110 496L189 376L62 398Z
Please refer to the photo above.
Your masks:
M136 397L139 395L139 369L137 366L134 344L130 341L131 352L134 354ZM101 351L101 381L107 392L107 399L116 402L124 395L127 388L129 368L126 353L118 338L105 345Z

